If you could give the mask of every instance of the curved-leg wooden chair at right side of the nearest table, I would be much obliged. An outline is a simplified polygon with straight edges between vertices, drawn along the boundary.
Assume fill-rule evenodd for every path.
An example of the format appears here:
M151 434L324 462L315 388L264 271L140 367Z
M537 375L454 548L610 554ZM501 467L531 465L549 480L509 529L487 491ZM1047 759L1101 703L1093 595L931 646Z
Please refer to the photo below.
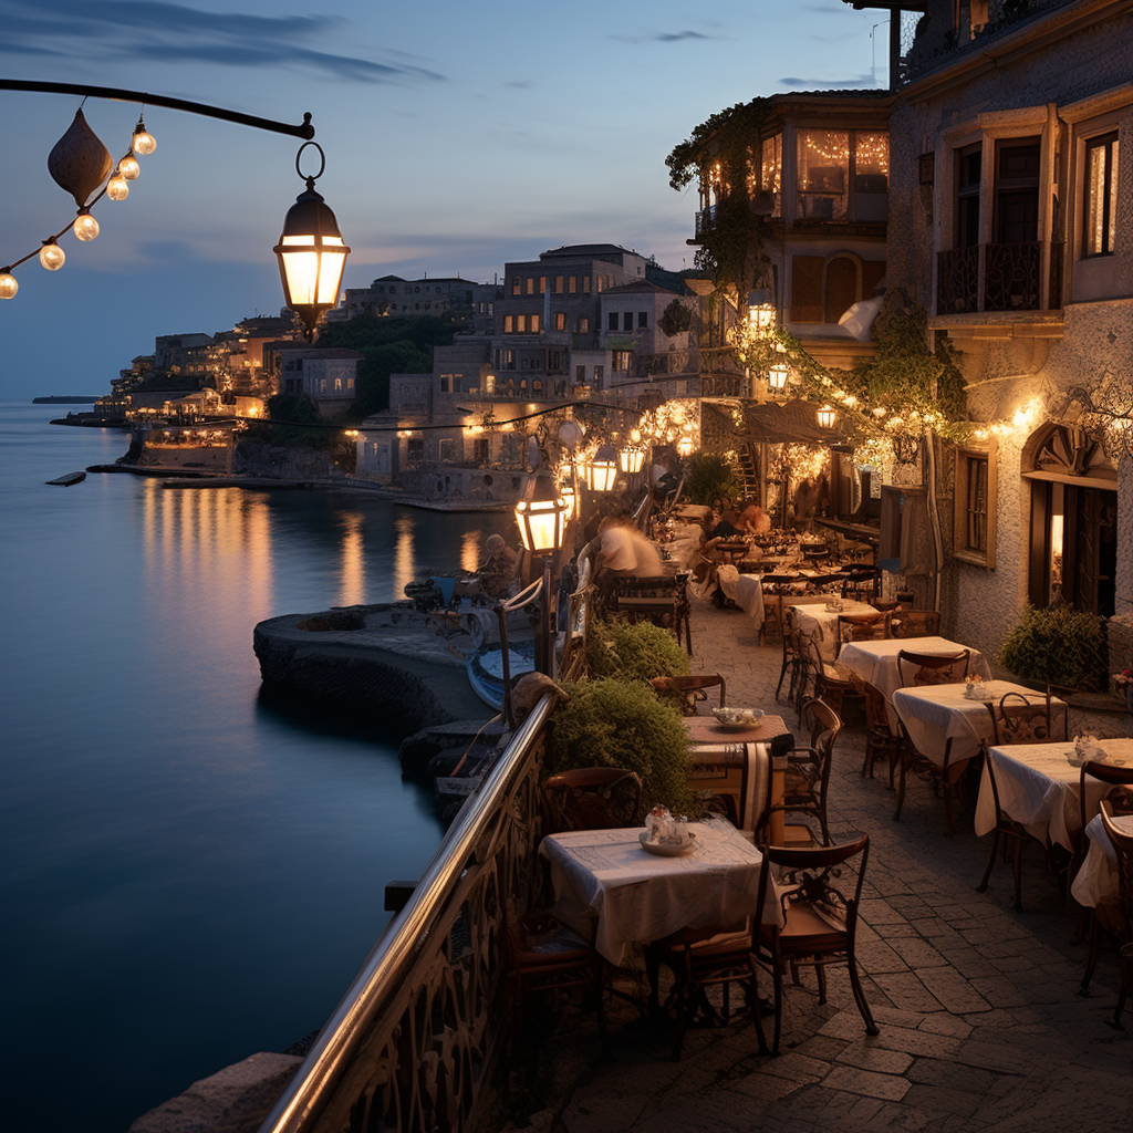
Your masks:
M845 963L854 1002L866 1023L867 1034L877 1034L877 1024L866 1002L854 955L861 887L869 859L869 836L844 845L817 849L764 846L756 909L763 909L776 870L785 925L783 928L757 925L758 959L770 968L775 985L775 1033L772 1053L778 1051L783 1020L783 973L790 966L793 982L798 969L812 966L818 976L818 1002L826 1003L825 966ZM858 877L852 892L838 887L844 868L858 861Z

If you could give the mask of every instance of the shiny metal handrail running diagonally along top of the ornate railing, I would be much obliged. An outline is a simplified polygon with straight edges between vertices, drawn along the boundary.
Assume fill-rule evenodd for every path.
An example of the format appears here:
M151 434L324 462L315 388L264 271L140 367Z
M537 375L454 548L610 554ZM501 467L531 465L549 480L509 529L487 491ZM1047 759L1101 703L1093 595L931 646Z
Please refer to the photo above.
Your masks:
M479 790L469 796L412 896L374 945L259 1133L303 1133L314 1127L334 1087L361 1053L369 1023L401 990L421 943L428 938L435 910L455 887L468 858L487 833L497 799L505 796L525 772L523 756L553 707L552 697L539 700Z

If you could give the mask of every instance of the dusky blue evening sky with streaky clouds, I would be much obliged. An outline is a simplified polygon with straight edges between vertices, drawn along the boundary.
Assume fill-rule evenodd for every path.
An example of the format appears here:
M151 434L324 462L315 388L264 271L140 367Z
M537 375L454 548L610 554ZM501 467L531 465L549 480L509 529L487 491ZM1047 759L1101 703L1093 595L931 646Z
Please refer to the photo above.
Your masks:
M612 242L692 266L695 187L665 157L757 95L885 86L887 14L842 0L0 0L0 77L150 92L299 123L351 248L344 288L386 273L491 282L504 263ZM46 159L82 100L0 91L0 266L75 203ZM91 97L113 157L138 105ZM99 238L60 240L0 301L0 397L103 394L160 334L282 306L272 248L300 142L151 107L156 151ZM303 157L308 172L313 151ZM314 155L317 157L317 154Z

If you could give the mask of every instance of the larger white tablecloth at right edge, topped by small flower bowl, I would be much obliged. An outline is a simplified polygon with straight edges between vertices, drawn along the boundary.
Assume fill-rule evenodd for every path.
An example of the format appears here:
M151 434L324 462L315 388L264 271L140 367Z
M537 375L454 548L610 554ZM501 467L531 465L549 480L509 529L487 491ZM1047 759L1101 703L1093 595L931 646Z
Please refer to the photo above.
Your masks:
M1115 760L1124 759L1127 766L1133 767L1133 740L1101 740L1100 746L1107 756ZM1040 842L1057 842L1067 850L1074 849L1081 828L1077 790L1082 770L1073 767L1066 758L1073 749L1073 740L1062 740L1056 743L1013 743L988 751L1004 813L1022 823L1028 833ZM1098 803L1108 790L1098 780L1087 780L1088 821L1090 815L1098 812ZM985 764L980 795L976 801L976 833L987 834L994 828L995 798Z

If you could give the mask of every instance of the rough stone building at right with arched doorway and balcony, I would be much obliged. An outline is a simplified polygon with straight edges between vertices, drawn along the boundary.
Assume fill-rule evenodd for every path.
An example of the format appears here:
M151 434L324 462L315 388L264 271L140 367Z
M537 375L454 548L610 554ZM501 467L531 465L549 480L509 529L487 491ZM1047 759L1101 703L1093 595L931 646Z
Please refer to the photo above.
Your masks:
M1127 664L1133 6L923 7L891 114L886 280L960 351L986 425L912 469L939 505L942 602L993 653L1028 602L1116 612Z

